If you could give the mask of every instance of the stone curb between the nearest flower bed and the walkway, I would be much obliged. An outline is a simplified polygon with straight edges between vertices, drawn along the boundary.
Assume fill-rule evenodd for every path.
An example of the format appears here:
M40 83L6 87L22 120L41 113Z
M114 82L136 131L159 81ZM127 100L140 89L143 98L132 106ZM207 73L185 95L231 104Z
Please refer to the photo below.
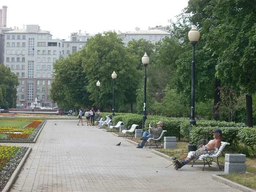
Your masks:
M29 147L29 149L27 150L27 152L25 153L24 157L22 158L22 160L20 161L19 165L17 166L17 168L15 169L15 171L12 173L11 178L9 179L9 181L7 182L7 184L5 185L5 187L3 188L2 192L8 192L10 191L10 189L12 188L12 185L14 184L16 178L19 175L20 170L22 169L24 163L26 162L27 158L29 157L29 154L32 150L32 147Z

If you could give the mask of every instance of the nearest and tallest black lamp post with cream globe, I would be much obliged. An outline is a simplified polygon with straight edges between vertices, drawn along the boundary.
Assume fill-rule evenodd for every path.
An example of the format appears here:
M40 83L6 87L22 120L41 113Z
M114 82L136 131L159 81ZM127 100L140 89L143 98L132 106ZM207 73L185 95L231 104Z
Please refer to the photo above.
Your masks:
M191 79L191 116L189 118L189 129L191 130L192 125L196 125L196 120L195 120L195 45L197 41L200 38L200 33L196 29L196 26L193 25L192 29L188 32L188 38L189 41L191 42L193 46L193 60L192 60L192 79ZM194 151L196 148L193 148L192 143L188 144L188 151Z

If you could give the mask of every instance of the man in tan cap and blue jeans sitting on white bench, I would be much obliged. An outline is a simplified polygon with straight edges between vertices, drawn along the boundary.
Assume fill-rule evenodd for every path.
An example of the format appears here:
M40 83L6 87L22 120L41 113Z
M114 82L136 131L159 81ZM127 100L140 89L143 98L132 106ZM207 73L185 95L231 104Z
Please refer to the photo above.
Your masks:
M142 143L137 146L137 148L143 148L144 147L144 144L147 142L147 139L148 138L159 138L159 136L161 135L162 131L163 131L163 122L162 121L159 121L157 123L157 128L152 128L149 124L149 129L147 131L144 131L143 135L142 135L142 138L140 138L140 140L143 140Z

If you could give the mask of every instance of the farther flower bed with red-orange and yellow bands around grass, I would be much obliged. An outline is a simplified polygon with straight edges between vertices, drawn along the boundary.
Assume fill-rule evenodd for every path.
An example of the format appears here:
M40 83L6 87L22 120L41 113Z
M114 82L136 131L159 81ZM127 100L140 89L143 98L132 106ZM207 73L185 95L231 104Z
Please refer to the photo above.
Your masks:
M33 141L38 131L44 124L45 120L41 119L16 119L16 120L5 120L10 121L29 121L30 123L23 127L0 127L0 140L24 140Z

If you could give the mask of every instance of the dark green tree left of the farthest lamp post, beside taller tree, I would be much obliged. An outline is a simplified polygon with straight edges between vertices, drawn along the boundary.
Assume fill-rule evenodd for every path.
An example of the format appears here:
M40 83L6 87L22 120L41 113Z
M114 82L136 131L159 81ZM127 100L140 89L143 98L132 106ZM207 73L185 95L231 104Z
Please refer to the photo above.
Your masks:
M51 99L67 109L90 105L86 91L88 80L82 68L82 52L74 52L65 59L57 60L53 68Z

